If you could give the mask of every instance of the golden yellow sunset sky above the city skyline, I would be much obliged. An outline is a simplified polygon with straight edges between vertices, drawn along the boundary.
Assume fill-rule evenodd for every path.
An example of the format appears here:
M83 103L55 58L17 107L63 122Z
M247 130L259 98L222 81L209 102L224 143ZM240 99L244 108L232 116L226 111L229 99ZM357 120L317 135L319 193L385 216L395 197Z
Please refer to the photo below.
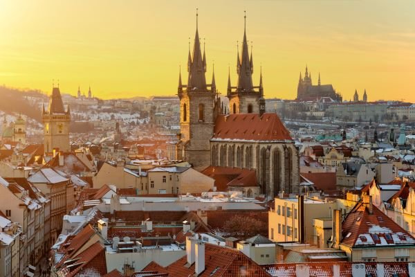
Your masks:
M206 42L207 79L225 93L237 40L253 42L266 98L295 98L299 71L344 99L415 102L415 1L0 0L0 84L50 93L78 85L101 98L174 95L194 39ZM182 66L183 80L187 80Z

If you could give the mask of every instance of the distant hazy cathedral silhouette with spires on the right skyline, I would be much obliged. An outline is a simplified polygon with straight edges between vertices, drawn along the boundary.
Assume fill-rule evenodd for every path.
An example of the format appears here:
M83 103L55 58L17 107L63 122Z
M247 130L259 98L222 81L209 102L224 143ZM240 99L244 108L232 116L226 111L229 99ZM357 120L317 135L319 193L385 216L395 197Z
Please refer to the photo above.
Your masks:
M318 74L317 85L313 84L311 73L308 73L308 67L306 66L304 78L302 78L301 72L299 73L297 100L317 100L322 97L330 97L338 102L342 102L343 100L340 93L337 93L333 89L332 84L321 84L320 73Z

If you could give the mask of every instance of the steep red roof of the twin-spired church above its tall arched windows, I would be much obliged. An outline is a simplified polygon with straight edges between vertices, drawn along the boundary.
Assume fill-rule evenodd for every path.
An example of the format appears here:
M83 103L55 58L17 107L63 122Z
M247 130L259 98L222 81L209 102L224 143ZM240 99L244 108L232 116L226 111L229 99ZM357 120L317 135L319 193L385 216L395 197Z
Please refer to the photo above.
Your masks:
M218 116L212 140L292 141L277 114Z

